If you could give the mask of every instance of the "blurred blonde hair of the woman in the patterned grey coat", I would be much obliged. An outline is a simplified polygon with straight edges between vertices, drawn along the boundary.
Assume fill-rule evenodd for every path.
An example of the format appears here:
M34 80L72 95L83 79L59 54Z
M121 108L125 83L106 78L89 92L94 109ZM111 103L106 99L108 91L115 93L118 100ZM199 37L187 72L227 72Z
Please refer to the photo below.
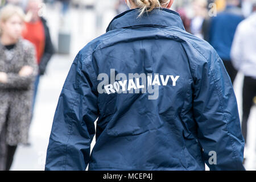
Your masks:
M23 10L19 6L7 5L3 7L0 11L0 23L6 22L11 16L18 15L20 19L24 22L25 14ZM2 34L1 26L0 26L0 35Z

